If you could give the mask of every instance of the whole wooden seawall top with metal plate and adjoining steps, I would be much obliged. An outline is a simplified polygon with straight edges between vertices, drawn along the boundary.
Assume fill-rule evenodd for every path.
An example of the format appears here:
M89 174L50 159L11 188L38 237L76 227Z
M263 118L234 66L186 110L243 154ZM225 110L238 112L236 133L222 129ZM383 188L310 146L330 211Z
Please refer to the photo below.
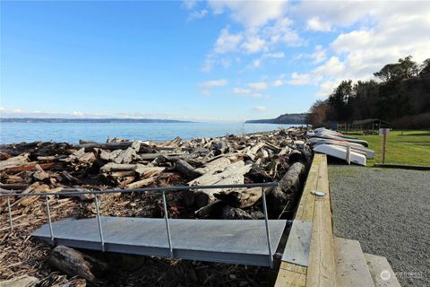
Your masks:
M315 196L316 190L325 196ZM325 154L314 155L275 286L400 287L385 257L333 236Z

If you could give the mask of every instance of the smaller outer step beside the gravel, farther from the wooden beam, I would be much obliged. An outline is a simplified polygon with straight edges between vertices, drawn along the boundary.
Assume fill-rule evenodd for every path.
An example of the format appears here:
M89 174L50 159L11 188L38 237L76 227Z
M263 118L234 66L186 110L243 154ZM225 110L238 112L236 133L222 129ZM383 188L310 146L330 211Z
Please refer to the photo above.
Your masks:
M364 255L375 287L400 287L396 274L392 271L387 258L368 253Z

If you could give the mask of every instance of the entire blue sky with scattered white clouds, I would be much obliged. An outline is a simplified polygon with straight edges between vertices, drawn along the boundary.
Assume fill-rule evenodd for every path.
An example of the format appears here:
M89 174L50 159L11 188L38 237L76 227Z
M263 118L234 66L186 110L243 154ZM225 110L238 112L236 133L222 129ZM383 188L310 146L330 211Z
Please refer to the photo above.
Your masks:
M3 117L243 120L430 57L428 1L1 2Z

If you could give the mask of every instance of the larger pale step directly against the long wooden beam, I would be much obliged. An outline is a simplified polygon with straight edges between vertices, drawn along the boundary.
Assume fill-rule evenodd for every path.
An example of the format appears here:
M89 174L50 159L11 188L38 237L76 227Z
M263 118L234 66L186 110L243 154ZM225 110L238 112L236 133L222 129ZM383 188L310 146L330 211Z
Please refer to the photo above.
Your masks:
M357 240L334 238L334 257L338 286L374 286L366 258Z

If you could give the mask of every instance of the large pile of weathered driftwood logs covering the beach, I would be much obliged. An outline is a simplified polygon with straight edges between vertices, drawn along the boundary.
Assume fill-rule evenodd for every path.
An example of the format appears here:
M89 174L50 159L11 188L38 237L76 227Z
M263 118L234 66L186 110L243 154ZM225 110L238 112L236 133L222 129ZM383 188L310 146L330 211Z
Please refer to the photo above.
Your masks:
M107 140L107 143L81 141L80 144L51 142L3 144L0 146L0 192L55 192L58 196L49 196L48 200L51 215L54 220L58 220L69 216L94 216L95 204L92 196L84 192L88 189L278 181L280 187L265 190L269 215L270 218L290 219L294 214L311 157L311 151L305 143L305 130L300 129L244 136L196 138L189 141L176 138L163 143L131 142L115 138ZM82 195L64 197L64 191L71 190L81 190ZM168 215L174 218L262 219L261 196L261 187L172 192L168 193ZM2 234L4 233L0 242L0 279L14 280L17 275L27 274L35 275L38 281L41 280L39 285L46 286L55 284L61 286L63 283L64 286L73 284L81 286L86 282L99 283L99 276L92 274L91 268L87 270L86 275L80 274L77 270L64 269L60 264L62 260L55 260L56 253L64 256L70 251L77 252L73 254L90 264L88 255L84 256L78 251L62 247L51 251L47 246L30 239L31 230L46 222L44 198L26 196L10 200L13 231L10 231L6 224L8 219L6 200L2 199L0 202L0 216L3 222L0 230ZM109 194L100 196L99 200L100 212L104 215L139 217L164 215L160 196L150 192ZM98 258L93 262L105 266L105 269L109 269L108 266L111 265L106 258ZM177 271L181 275L171 274L172 278L169 278L169 273L159 274L166 270L162 271L160 267L161 271L157 271L152 264L152 267L142 265L137 271L128 270L126 276L134 278L130 274L137 272L135 277L141 284L154 285L168 285L173 278L179 280L175 284L181 284L181 280L185 283L191 280L189 282L195 285L204 283L245 286L267 283L261 275L264 268L202 264L184 260L162 259L157 262L159 266L166 268L169 266L167 269L170 271L176 270L176 267L187 271L181 269L182 271ZM226 271L231 268L236 270L235 273ZM144 277L140 274L142 270L145 270ZM212 274L202 276L201 270L202 272L211 270ZM219 274L215 275L217 270L219 274L223 274L222 280ZM78 274L79 278L73 278L73 275ZM98 270L96 274L108 273ZM65 275L68 275L68 279ZM207 276L209 277L206 278ZM119 285L118 281L115 281L119 277L121 276L117 275L114 279L104 278L103 283Z

